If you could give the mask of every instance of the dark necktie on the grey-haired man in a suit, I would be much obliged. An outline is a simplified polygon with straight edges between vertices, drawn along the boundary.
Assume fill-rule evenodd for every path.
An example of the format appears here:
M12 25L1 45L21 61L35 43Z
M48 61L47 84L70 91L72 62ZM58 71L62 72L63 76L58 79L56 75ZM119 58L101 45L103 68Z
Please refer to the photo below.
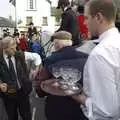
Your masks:
M11 60L11 56L8 56L8 60L9 60L9 74L10 74L11 84L15 85L15 87L17 88L18 87L17 76L15 73L13 62Z

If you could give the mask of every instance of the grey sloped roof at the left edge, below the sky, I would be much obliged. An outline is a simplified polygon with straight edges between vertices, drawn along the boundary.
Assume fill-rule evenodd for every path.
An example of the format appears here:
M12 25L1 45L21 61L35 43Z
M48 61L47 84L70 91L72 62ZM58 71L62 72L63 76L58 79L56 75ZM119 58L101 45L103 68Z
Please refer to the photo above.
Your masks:
M11 28L14 28L15 27L15 22L10 21L7 18L0 17L0 27L11 27Z

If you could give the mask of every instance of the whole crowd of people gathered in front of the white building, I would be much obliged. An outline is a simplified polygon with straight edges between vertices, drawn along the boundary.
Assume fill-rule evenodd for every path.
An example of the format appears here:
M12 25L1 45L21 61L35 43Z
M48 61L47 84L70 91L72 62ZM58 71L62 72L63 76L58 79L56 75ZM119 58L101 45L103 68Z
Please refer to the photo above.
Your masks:
M62 20L51 36L51 55L45 56L33 23L27 39L16 30L0 40L0 120L18 120L18 114L32 120L33 81L38 96L46 98L47 120L119 120L120 33L114 1L89 0L76 9L73 1L59 0L58 8L63 10ZM86 47L84 40L90 38L97 38L97 43ZM79 71L82 91L62 96L56 88L64 91L65 84L59 81L67 77L69 83L73 72L67 74L66 68ZM61 69L65 71L58 72ZM53 94L44 89L46 83Z

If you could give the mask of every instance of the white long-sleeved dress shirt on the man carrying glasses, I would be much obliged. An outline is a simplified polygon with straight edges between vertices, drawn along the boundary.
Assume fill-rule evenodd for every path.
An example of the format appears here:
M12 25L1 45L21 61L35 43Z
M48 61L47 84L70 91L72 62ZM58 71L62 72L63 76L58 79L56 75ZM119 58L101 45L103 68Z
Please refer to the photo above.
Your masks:
M116 28L104 32L84 68L84 92L89 120L120 118L120 34Z

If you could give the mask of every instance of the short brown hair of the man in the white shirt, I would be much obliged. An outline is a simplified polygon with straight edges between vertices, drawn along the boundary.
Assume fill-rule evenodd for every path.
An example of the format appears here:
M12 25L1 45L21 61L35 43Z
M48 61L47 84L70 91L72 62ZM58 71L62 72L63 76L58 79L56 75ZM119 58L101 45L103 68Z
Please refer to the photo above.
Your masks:
M93 17L100 12L108 21L116 19L117 7L113 0L90 0L86 5Z

